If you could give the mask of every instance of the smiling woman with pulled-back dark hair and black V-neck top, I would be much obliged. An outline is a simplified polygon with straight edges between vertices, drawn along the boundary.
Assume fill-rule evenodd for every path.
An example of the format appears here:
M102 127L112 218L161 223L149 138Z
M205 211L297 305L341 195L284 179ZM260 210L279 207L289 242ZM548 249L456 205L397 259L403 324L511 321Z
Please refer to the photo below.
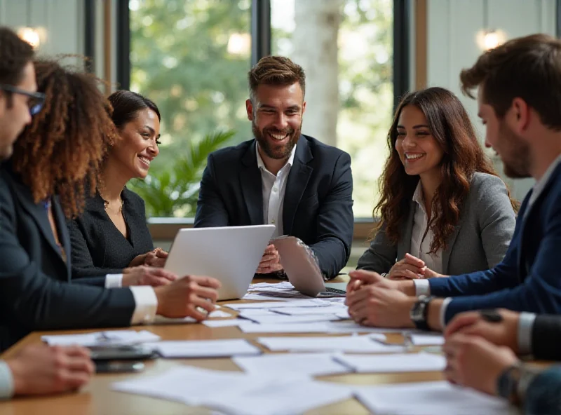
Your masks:
M108 99L120 139L107 144L97 191L86 200L83 214L68 223L73 278L128 273L135 266L163 267L168 257L154 249L144 200L126 188L130 179L147 176L160 152L160 111L151 100L128 90Z

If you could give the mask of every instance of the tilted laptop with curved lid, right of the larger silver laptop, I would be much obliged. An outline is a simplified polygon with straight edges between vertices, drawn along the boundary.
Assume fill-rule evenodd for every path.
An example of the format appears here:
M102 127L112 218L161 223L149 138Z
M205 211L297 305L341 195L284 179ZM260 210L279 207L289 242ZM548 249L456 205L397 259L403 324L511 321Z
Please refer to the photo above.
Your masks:
M346 283L325 283L309 248L294 236L279 236L271 240L280 256L288 281L295 290L310 297L345 297Z

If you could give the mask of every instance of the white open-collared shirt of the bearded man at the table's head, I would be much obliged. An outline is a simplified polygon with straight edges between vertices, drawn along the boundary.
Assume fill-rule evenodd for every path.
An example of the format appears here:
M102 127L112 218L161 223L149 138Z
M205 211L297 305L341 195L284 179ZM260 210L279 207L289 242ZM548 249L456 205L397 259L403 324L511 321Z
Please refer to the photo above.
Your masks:
M255 143L257 150L257 167L261 172L261 183L263 192L263 223L275 225L275 231L271 238L283 235L283 206L285 203L286 182L290 168L294 163L296 146L292 149L290 157L283 168L276 175L269 172L265 167L263 159L259 155L259 144Z

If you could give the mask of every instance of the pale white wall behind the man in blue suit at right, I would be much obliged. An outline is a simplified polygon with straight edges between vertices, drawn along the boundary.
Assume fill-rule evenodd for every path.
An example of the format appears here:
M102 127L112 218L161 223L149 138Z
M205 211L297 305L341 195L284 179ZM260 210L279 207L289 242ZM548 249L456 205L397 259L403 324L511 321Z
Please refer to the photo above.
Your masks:
M428 0L427 85L452 90L468 109L472 121L484 137L477 118L477 104L461 94L459 73L471 67L482 52L476 41L485 29L500 29L506 39L536 32L555 35L555 0ZM502 172L500 161L495 161ZM515 198L522 200L532 179L506 180Z

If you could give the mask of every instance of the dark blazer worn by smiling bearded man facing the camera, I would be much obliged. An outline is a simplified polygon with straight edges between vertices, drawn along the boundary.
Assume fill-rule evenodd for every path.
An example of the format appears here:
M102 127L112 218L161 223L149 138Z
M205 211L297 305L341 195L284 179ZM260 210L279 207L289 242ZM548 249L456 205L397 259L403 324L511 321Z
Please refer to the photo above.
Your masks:
M351 254L353 240L351 157L301 135L283 205L283 231L316 253L332 278ZM198 195L195 227L263 224L261 172L255 140L208 156Z

